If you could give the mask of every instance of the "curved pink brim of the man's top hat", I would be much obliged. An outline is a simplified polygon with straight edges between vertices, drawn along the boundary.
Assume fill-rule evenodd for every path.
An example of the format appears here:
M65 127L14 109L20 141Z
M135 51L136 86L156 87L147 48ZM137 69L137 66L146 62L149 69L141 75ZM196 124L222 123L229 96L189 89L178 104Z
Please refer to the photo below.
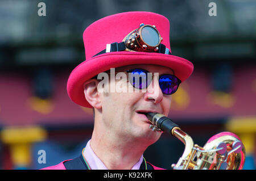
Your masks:
M153 64L162 65L174 70L181 82L193 71L193 64L184 58L161 53L146 52L110 52L90 58L79 64L69 75L67 91L69 98L80 106L92 108L84 95L84 83L95 75L127 65Z

